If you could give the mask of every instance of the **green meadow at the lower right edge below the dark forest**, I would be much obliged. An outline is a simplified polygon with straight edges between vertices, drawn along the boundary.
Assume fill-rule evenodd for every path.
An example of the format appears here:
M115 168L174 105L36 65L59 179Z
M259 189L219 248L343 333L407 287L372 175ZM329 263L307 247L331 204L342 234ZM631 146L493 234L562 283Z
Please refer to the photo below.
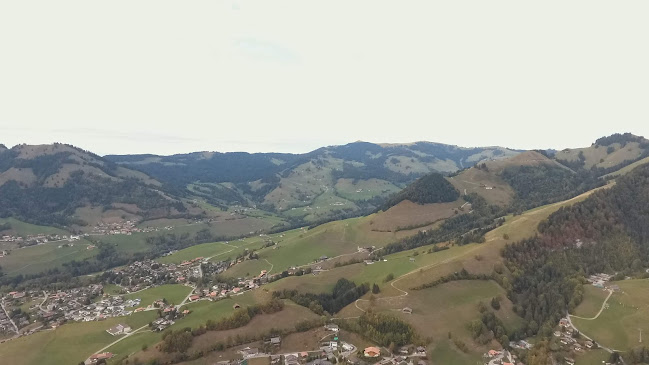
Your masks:
M639 329L649 333L649 280L617 282L621 292L613 294L608 309L595 320L572 319L584 334L603 346L620 351L638 346Z

